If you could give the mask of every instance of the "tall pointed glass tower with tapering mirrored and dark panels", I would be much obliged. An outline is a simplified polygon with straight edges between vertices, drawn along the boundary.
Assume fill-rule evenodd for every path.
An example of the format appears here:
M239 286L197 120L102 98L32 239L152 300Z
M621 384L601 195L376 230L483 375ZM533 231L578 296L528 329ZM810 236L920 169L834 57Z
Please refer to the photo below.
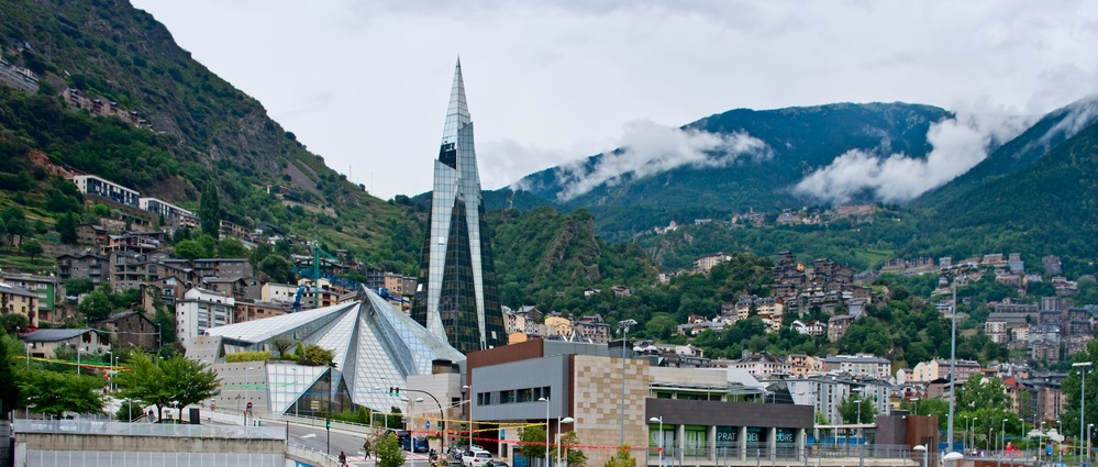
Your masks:
M431 227L423 241L412 318L464 354L507 344L484 210L458 59L434 162Z

